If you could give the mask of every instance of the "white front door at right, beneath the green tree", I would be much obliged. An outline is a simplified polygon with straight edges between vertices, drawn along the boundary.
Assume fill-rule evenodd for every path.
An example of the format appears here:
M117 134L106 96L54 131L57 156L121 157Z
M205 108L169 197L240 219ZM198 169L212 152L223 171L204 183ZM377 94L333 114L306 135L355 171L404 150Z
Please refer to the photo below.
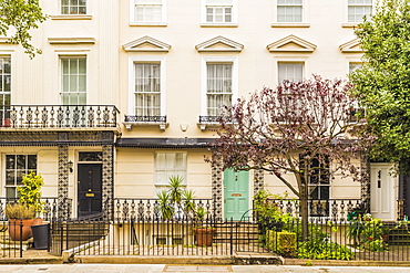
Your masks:
M390 164L370 165L370 212L373 218L396 220L397 178L391 176Z

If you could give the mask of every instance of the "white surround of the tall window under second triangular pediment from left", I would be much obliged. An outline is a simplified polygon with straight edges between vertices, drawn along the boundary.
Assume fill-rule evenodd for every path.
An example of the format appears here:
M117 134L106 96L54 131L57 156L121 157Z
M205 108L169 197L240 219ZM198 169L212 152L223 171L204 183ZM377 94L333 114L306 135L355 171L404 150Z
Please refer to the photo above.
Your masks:
M202 60L202 103L201 115L207 116L207 64L208 63L230 63L232 64L232 102L238 97L238 57L236 56L204 56Z

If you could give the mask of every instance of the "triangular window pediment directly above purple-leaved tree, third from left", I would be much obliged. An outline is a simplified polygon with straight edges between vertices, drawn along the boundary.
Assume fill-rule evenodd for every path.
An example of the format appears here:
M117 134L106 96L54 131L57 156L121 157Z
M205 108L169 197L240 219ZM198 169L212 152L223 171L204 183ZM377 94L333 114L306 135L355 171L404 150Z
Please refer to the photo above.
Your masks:
M268 44L266 48L269 52L314 52L317 46L301 38L290 34Z

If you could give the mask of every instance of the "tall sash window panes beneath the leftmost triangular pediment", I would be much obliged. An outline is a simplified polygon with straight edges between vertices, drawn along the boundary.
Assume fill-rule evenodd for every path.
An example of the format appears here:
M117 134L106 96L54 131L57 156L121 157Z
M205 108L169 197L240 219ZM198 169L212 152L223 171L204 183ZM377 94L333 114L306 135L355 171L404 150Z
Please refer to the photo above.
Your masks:
M135 63L135 115L161 116L161 63Z

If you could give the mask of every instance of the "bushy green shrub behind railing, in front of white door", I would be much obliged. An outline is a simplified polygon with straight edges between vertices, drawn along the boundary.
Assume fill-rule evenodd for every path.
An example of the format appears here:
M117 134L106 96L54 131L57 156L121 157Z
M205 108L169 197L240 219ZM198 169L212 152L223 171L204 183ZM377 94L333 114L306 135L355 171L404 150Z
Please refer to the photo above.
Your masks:
M359 217L358 220L350 221L346 230L347 237L353 240L356 246L377 252L387 250L387 245L381 238L386 233L387 228L383 222L380 219L372 218L369 213L362 218Z

